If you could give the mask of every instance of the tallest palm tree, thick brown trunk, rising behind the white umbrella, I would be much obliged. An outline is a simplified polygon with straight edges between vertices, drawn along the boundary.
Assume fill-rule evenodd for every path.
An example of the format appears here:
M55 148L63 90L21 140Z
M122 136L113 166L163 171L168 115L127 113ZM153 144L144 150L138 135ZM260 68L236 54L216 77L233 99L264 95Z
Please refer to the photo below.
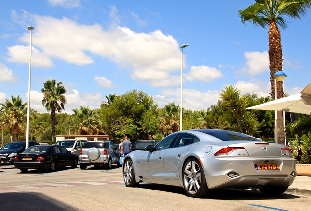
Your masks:
M242 23L253 22L255 26L263 28L269 27L269 63L270 63L270 82L271 96L274 99L274 74L282 70L282 45L281 33L278 28L287 28L285 17L298 18L306 14L311 6L311 0L256 0L256 3L250 5L244 10L239 10L239 16ZM284 96L283 82L277 82L277 98ZM282 124L282 112L277 112L277 133L278 143L284 143L284 130Z

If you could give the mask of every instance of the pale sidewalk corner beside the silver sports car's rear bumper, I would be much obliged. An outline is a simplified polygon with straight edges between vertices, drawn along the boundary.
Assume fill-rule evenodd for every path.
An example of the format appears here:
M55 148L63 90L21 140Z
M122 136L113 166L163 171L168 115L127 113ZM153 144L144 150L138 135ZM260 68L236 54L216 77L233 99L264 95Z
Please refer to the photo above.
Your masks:
M286 193L311 196L311 177L296 176L295 181L289 186Z

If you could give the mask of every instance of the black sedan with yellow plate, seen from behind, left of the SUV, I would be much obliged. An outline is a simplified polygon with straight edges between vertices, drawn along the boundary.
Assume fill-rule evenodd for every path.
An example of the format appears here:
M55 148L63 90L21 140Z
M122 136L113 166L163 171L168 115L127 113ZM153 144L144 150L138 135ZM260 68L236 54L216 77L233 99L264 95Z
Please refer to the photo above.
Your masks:
M78 156L58 145L35 145L27 148L14 159L14 166L25 173L28 169L54 171L59 167L76 168Z

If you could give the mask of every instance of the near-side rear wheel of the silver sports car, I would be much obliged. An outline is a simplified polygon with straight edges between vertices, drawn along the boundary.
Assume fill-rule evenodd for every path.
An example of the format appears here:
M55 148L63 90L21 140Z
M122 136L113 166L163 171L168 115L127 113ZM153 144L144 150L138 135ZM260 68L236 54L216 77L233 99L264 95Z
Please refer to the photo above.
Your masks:
M208 189L205 174L197 159L189 159L185 162L182 170L183 187L190 197L200 198L207 195Z

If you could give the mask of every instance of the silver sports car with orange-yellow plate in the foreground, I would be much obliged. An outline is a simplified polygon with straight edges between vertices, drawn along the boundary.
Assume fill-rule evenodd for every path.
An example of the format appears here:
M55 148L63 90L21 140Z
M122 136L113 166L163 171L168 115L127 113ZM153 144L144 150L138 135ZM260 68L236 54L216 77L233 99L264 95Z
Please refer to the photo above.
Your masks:
M142 182L175 185L190 197L208 196L221 188L278 195L296 176L295 159L287 146L218 129L172 133L154 147L126 155L122 169L127 187Z

